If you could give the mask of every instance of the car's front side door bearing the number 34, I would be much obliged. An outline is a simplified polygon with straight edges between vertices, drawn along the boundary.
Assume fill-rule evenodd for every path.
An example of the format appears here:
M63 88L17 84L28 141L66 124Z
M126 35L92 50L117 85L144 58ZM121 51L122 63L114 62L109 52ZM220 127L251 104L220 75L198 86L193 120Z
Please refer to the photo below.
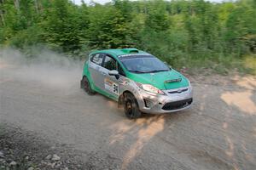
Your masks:
M115 99L118 99L120 90L123 88L120 82L122 82L124 77L123 75L119 75L119 77L109 76L108 71L119 71L119 64L115 59L113 59L113 57L106 54L102 66L102 71L105 72L104 91L113 96Z

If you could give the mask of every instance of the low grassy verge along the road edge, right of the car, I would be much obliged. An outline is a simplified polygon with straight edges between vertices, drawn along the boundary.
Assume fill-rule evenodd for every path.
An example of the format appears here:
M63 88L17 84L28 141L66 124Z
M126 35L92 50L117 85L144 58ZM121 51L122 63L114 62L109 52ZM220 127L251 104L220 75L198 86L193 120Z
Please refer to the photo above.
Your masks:
M188 68L189 74L217 73L220 75L229 75L230 72L235 71L241 75L256 75L256 54L247 54L241 58L231 55L214 58L183 57L173 59L172 64L177 69L182 69L183 67Z

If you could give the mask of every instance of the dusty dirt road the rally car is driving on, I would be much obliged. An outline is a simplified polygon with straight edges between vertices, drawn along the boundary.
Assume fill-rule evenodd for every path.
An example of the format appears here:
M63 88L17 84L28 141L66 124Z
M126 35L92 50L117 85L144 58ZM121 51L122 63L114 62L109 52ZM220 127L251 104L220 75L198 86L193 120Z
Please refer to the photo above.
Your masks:
M95 169L256 168L255 77L191 77L191 109L133 121L84 94L80 74L0 62L0 123L81 150Z

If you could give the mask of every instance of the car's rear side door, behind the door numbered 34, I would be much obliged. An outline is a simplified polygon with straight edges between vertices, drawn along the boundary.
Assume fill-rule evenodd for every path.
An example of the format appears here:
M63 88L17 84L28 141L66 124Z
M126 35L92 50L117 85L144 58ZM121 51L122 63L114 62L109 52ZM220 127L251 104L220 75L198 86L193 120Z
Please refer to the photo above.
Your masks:
M102 62L103 62L104 54L92 54L89 60L89 71L90 77L92 81L96 85L97 88L104 89L104 77L105 73L102 72Z

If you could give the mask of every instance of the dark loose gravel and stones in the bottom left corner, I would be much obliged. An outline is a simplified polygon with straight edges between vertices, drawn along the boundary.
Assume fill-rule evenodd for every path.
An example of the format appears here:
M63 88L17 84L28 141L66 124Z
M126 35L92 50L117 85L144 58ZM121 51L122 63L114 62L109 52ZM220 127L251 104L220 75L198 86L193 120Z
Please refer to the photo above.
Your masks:
M0 169L84 169L83 154L67 144L50 143L37 133L1 123Z

